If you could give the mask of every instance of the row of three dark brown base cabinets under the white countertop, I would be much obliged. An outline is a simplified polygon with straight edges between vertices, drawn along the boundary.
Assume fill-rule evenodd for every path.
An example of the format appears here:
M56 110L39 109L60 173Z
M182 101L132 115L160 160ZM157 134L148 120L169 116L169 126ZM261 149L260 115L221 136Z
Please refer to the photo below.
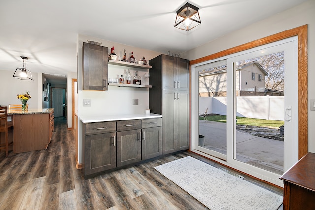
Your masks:
M162 118L82 123L85 177L162 155Z

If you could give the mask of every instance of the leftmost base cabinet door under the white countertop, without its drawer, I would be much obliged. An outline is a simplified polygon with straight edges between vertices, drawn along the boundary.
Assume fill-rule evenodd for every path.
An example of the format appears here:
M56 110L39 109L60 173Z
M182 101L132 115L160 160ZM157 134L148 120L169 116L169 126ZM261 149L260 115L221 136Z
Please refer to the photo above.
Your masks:
M115 134L85 136L85 176L116 167Z

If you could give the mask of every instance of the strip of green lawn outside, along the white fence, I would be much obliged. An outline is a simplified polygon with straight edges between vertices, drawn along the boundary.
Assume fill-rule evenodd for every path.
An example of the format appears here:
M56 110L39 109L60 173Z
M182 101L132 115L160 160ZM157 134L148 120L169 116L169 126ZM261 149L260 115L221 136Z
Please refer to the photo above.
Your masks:
M215 121L215 122L223 122L226 123L226 115L216 115L210 114L207 115L207 120ZM199 118L203 120L203 117ZM264 120L264 119L256 119L256 118L244 118L244 117L236 117L238 125L254 125L260 127L280 127L284 125L284 121L279 120Z

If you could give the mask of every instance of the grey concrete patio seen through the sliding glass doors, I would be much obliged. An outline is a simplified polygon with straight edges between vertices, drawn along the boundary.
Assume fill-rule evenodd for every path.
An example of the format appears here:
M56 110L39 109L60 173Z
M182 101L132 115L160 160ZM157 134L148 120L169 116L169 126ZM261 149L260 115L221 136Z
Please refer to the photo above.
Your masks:
M199 120L204 148L226 154L226 123ZM236 158L239 161L277 173L284 173L284 141L236 131Z

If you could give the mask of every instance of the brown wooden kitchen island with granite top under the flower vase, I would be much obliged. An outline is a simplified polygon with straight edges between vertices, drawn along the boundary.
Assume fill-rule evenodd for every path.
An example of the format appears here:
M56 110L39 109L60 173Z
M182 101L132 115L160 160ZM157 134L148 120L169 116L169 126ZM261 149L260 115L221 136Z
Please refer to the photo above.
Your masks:
M54 130L54 109L8 110L13 120L13 153L47 149Z

